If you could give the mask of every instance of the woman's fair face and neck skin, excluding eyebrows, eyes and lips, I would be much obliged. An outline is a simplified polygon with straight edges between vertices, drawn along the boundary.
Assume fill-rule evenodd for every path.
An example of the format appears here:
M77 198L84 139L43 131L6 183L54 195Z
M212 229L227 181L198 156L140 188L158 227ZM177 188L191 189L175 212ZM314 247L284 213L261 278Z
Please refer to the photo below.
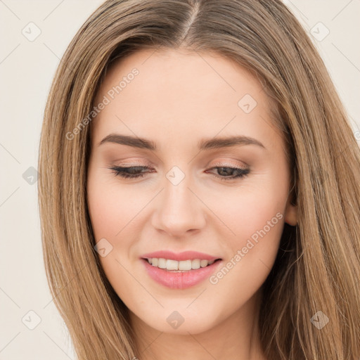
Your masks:
M290 204L285 143L274 126L274 104L257 77L217 53L142 50L110 68L95 104L133 68L139 75L91 122L87 188L96 242L113 246L100 257L108 280L129 308L143 359L265 359L257 326L262 284L274 264L284 222L297 224ZM238 101L257 106L245 113ZM111 133L154 141L158 150L98 143ZM244 135L256 145L198 150L198 141ZM110 167L149 166L137 179ZM176 186L166 177L184 173ZM222 167L248 167L232 179ZM218 176L218 177L217 177ZM221 181L221 176L230 178ZM195 250L221 258L221 269L259 229L277 224L216 284L169 289L153 281L139 257L146 252ZM178 311L184 323L172 328Z

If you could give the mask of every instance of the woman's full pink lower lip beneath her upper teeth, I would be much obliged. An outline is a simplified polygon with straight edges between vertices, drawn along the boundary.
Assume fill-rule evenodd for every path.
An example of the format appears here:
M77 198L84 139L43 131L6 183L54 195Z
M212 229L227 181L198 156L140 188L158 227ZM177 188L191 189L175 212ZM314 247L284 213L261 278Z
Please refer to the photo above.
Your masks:
M221 260L217 260L211 265L200 267L200 269L174 272L160 269L158 266L153 266L149 264L146 259L142 259L142 261L145 264L145 269L148 271L150 278L153 278L156 282L171 289L186 289L201 283L214 273L221 262Z

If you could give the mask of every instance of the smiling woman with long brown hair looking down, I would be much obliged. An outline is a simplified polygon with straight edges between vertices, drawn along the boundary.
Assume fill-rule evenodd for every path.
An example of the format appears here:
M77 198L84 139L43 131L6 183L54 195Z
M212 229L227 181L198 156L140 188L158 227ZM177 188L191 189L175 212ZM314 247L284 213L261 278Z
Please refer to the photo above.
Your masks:
M359 358L359 146L281 1L105 1L39 173L79 359Z

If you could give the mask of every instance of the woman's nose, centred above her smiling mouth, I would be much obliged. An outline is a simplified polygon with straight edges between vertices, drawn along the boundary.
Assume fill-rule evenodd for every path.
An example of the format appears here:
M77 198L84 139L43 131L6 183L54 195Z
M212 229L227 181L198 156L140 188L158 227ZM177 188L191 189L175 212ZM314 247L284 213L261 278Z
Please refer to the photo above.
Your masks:
M168 179L165 179L164 184L152 218L154 228L173 237L203 229L206 223L205 205L189 187L188 177L177 185Z

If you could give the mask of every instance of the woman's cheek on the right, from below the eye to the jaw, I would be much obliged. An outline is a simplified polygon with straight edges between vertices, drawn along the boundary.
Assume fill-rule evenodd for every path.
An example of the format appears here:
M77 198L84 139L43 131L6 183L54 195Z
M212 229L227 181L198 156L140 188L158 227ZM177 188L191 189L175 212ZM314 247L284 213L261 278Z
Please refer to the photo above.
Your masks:
M229 195L223 193L221 202L217 199L212 203L217 217L226 224L221 236L226 250L225 269L215 274L212 283L221 283L224 289L233 288L235 283L243 284L240 290L234 290L241 298L242 291L250 295L265 281L283 232L287 184L279 186L278 177L265 176L266 181L261 179L259 185L244 182L238 195L229 191Z

